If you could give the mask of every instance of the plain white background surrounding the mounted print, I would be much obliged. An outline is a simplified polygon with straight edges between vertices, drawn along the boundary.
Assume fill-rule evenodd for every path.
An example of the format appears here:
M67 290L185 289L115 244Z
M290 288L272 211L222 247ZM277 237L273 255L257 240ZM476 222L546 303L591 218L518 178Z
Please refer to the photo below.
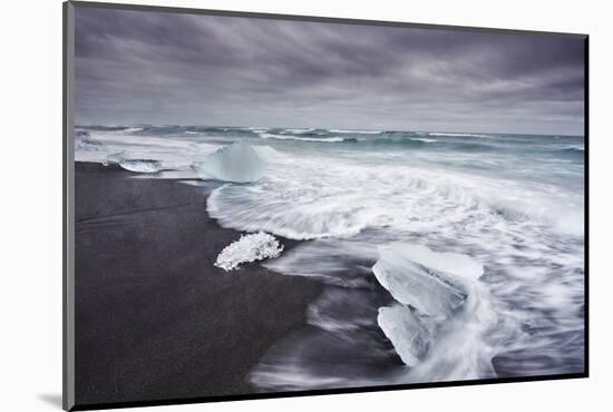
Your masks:
M613 210L613 24L607 1L142 2L591 35L590 379L178 405L149 410L517 412L592 411L611 408L613 274L609 234ZM61 2L6 1L2 4L1 19L0 410L57 411L61 394ZM469 59L470 56L466 58Z

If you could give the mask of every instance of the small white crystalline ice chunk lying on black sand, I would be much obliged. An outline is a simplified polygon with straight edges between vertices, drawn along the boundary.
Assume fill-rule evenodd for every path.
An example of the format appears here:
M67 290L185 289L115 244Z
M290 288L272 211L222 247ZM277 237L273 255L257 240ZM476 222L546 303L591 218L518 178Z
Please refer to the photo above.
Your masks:
M278 257L281 252L283 252L283 245L280 245L279 241L267 233L242 235L239 241L224 247L217 256L215 266L228 272L239 268L242 263Z

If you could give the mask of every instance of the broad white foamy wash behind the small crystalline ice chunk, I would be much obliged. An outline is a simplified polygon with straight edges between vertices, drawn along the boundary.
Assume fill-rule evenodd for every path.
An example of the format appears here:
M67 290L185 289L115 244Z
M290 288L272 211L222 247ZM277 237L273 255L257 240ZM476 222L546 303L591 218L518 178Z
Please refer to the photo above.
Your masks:
M389 161L373 167L362 157L331 160L285 153L271 159L274 173L265 182L216 190L208 212L228 227L296 239L351 236L386 226L445 233L455 225L485 227L488 219L493 225L532 220L568 232L567 223L582 222L581 197L554 187L528 188L515 180Z

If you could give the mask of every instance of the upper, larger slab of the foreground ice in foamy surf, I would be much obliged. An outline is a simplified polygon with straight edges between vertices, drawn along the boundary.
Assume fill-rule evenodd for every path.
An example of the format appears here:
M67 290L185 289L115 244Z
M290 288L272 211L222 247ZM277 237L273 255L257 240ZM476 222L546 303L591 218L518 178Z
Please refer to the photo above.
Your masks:
M483 274L483 266L466 255L392 244L379 247L372 272L396 301L441 318L464 304L467 283Z

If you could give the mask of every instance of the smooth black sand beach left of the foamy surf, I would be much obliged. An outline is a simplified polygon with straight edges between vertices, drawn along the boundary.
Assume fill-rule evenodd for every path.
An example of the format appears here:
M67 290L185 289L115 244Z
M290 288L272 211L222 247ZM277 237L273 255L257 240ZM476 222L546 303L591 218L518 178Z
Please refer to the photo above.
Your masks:
M205 189L130 176L76 164L77 403L253 393L247 374L321 285L214 267L240 233L208 218Z

